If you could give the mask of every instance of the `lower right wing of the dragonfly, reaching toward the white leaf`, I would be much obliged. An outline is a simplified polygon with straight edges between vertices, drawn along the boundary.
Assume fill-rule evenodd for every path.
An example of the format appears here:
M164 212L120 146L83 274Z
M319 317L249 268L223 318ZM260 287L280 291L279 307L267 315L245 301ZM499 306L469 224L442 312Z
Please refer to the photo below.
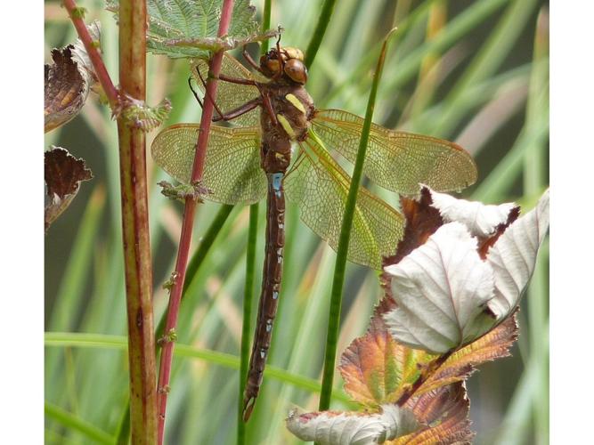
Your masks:
M303 222L336 250L351 178L316 141L315 134L310 133L300 146L302 151L283 182L285 193L299 206ZM402 214L361 188L349 261L381 269L382 255L394 255L403 226Z

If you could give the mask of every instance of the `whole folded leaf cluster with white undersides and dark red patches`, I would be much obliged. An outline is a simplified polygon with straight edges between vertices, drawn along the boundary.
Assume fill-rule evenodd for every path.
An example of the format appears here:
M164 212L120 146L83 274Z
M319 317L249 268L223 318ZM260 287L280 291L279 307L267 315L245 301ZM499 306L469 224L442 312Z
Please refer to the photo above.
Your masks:
M484 206L429 189L419 204L403 202L403 209L405 239L386 259L382 276L394 303L384 317L396 341L430 353L451 352L509 317L549 228L549 192L519 219L514 204ZM428 229L419 231L416 216L421 223L430 216ZM458 221L447 223L452 218ZM427 238L439 219L444 224Z

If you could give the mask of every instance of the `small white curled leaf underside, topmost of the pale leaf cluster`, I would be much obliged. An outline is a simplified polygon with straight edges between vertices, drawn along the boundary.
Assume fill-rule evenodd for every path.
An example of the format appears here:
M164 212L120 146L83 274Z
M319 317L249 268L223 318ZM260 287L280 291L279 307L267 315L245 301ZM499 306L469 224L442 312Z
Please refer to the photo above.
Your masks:
M430 192L432 206L439 210L443 222L463 223L474 237L484 238L491 235L498 225L508 221L509 212L516 206L514 203L486 206L482 202L457 199L433 190Z

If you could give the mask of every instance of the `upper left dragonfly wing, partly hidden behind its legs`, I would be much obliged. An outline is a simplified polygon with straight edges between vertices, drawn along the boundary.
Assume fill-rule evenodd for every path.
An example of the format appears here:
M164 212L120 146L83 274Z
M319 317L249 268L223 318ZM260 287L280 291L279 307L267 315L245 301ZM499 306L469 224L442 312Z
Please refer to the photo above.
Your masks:
M208 62L202 59L194 59L191 62L191 75L194 77L196 84L199 86L202 93L204 93L204 87L202 81L196 74L196 68L199 69L202 78L206 81L208 77ZM253 80L253 76L239 61L232 58L232 56L224 53L223 65L221 66L221 74L228 77L250 79ZM260 92L256 86L252 85L240 85L232 84L231 82L219 81L216 87L216 105L224 113L228 113L232 109L237 109L247 101L256 99L260 95ZM260 108L252 109L248 113L236 117L229 121L233 125L237 126L254 126L260 125Z

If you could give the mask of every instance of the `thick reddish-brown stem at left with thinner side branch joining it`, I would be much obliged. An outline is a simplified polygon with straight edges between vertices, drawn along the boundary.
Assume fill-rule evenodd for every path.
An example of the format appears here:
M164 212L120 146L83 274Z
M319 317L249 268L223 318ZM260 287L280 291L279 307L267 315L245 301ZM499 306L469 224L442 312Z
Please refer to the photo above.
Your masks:
M112 110L121 97L144 101L146 96L146 3L119 2L119 84L113 85L81 9L64 0L78 36L93 63ZM152 312L152 268L143 130L118 116L122 237L126 278L130 425L132 443L152 445L157 439L155 336Z

